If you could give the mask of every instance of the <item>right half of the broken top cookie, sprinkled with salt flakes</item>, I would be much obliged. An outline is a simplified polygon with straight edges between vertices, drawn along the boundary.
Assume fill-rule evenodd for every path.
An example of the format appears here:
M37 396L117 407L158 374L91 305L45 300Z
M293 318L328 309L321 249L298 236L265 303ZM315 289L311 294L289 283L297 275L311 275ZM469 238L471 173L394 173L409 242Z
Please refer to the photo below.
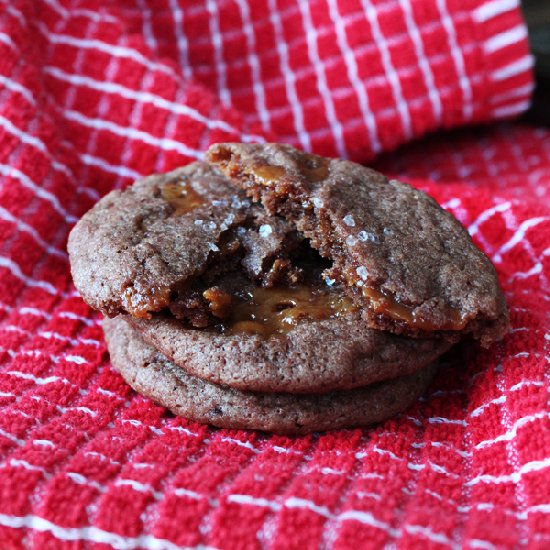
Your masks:
M496 272L464 227L425 193L359 164L278 144L218 144L207 159L330 259L369 326L415 337L500 339Z

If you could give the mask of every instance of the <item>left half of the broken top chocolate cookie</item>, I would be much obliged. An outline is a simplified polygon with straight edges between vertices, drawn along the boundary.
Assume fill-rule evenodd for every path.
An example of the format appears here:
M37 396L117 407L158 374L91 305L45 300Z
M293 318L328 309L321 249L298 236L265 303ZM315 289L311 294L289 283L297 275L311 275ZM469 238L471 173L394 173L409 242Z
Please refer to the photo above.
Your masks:
M231 230L249 207L243 193L204 163L112 191L69 236L74 283L108 316L148 318L172 304L181 312L192 301L185 292L190 281L239 248Z

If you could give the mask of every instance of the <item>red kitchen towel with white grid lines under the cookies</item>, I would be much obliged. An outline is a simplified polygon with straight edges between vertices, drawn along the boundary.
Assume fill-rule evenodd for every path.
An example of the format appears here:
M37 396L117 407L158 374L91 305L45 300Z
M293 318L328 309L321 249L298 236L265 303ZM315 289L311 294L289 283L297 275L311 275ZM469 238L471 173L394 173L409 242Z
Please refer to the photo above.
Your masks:
M0 0L0 548L548 547L550 132L377 160L469 229L512 330L368 430L171 417L111 368L65 252L101 195L209 143L365 161L531 87L516 0Z

